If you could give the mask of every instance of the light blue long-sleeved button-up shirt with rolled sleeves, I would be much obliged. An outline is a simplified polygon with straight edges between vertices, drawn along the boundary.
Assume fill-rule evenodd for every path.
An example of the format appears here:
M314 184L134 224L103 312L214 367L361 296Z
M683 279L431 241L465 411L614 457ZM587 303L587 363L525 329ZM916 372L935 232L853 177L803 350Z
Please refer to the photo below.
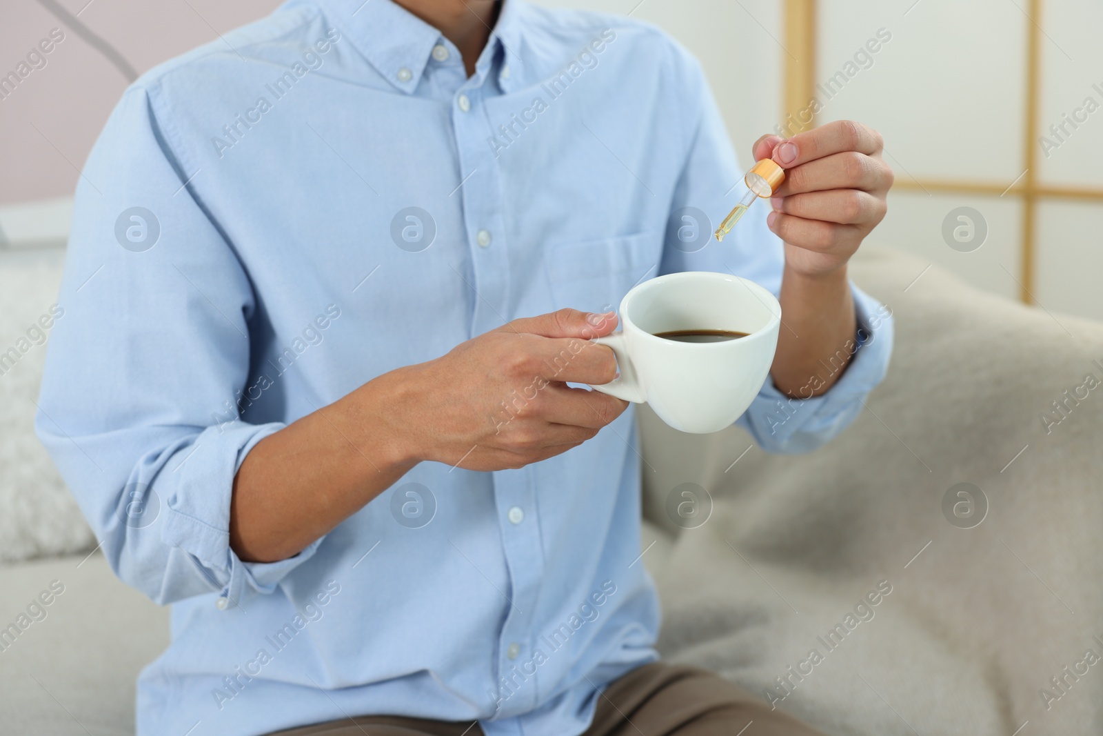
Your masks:
M508 0L468 78L436 30L362 2L292 0L147 73L81 177L38 430L115 572L172 604L142 735L381 713L583 730L597 689L656 657L633 412L520 470L422 462L271 564L228 545L234 474L287 424L507 320L668 271L779 288L763 204L696 239L742 168L663 33ZM882 377L891 323L855 294L842 380L807 402L768 383L740 420L764 448L818 446Z

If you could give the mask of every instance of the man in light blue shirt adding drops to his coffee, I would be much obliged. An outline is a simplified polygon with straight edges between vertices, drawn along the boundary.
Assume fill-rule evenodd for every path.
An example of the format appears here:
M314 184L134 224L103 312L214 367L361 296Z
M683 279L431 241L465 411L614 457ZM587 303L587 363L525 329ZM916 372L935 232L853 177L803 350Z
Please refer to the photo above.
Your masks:
M633 284L730 269L785 318L741 424L836 434L891 344L846 276L880 150L764 137L777 212L687 239L742 171L696 62L520 0L292 0L146 74L78 185L38 420L173 605L139 733L814 733L656 661L632 413L568 384L615 375L585 340Z

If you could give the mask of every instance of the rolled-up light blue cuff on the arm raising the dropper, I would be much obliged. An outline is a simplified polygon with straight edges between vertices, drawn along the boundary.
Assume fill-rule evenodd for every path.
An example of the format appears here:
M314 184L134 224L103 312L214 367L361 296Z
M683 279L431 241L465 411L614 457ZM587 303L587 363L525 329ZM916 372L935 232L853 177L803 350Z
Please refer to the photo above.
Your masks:
M737 423L764 450L797 454L821 447L854 420L865 397L885 378L892 354L892 312L858 287L852 285L850 291L858 323L855 338L837 358L822 362L824 370L820 377L810 377L803 391L814 392L817 381L839 370L842 377L826 393L813 398L786 396L767 378ZM847 353L852 355L849 363L844 362Z

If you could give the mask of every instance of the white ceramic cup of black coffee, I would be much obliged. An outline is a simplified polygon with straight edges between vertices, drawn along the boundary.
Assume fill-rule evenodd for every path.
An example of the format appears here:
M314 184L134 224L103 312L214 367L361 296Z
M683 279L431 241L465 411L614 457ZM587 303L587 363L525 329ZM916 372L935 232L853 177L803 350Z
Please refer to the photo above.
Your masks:
M694 434L719 431L747 410L773 363L781 305L738 276L684 271L624 295L621 330L593 342L617 354L620 376L593 386L651 405L663 422ZM728 330L746 338L690 343L655 337L675 330Z

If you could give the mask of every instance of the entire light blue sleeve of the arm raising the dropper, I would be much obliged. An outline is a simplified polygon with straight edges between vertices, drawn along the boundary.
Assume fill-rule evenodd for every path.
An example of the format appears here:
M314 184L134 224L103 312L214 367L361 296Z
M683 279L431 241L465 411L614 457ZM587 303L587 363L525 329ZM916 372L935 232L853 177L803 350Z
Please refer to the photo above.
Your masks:
M761 284L777 295L784 267L783 244L767 226L768 202L756 202L722 242L708 237L721 217L746 191L720 111L705 76L692 56L676 50L686 98L685 167L670 204L661 273L710 270L730 273ZM750 141L748 141L748 146ZM748 157L749 158L749 157ZM892 352L892 314L884 305L852 285L858 328L853 340L823 364L820 380L837 377L829 390L813 398L792 398L767 378L750 408L737 424L771 452L806 452L846 428L863 402L885 377ZM782 327L781 329L786 329ZM842 371L840 376L836 373ZM817 391L810 376L806 393Z

